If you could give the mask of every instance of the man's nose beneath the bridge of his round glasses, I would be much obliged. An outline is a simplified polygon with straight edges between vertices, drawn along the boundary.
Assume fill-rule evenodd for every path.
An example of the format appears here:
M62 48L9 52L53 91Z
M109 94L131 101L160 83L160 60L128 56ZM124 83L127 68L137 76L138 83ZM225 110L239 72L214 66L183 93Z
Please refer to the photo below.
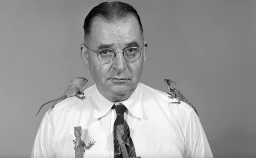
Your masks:
M127 63L122 52L116 52L116 57L112 62L113 69L116 69L118 72L123 72L127 68Z

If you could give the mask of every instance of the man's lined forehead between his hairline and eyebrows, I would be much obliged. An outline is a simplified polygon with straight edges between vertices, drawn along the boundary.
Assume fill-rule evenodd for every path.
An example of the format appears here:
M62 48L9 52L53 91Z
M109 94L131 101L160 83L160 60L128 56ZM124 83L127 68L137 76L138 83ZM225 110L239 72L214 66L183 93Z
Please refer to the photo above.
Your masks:
M135 17L116 22L107 22L100 17L93 20L90 44L94 46L101 44L122 46L131 42L140 43L141 40L140 27Z

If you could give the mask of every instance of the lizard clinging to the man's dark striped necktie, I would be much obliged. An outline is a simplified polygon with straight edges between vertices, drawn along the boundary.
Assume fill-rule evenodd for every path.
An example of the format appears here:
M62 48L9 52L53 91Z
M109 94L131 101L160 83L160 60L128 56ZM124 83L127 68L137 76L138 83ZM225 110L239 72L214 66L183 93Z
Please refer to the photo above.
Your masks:
M122 136L125 134L124 132L124 125L123 124L119 124L116 126L116 139L118 140L118 143L120 145L121 151L122 151L122 156L123 158L129 158L127 149L125 147L125 142L123 141ZM129 141L128 141L129 142ZM139 157L130 157L130 158L140 158Z

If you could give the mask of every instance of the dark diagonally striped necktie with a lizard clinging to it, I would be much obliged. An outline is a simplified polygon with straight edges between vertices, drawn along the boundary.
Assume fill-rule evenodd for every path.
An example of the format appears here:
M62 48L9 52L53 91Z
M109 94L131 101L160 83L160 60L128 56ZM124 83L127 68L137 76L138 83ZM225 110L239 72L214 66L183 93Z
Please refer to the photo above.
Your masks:
M130 137L130 129L124 119L126 107L120 103L114 105L116 121L114 123L114 152L115 158L136 157L134 144Z

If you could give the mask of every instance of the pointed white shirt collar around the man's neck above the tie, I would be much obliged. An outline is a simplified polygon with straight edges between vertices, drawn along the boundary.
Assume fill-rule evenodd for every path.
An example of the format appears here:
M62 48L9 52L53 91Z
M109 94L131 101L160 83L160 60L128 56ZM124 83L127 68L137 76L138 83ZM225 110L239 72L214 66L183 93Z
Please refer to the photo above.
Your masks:
M140 83L128 99L117 103L103 97L95 85L92 92L93 118L101 118L109 112L113 104L118 103L124 104L128 111L135 117L143 118L142 99L143 93L140 92Z

